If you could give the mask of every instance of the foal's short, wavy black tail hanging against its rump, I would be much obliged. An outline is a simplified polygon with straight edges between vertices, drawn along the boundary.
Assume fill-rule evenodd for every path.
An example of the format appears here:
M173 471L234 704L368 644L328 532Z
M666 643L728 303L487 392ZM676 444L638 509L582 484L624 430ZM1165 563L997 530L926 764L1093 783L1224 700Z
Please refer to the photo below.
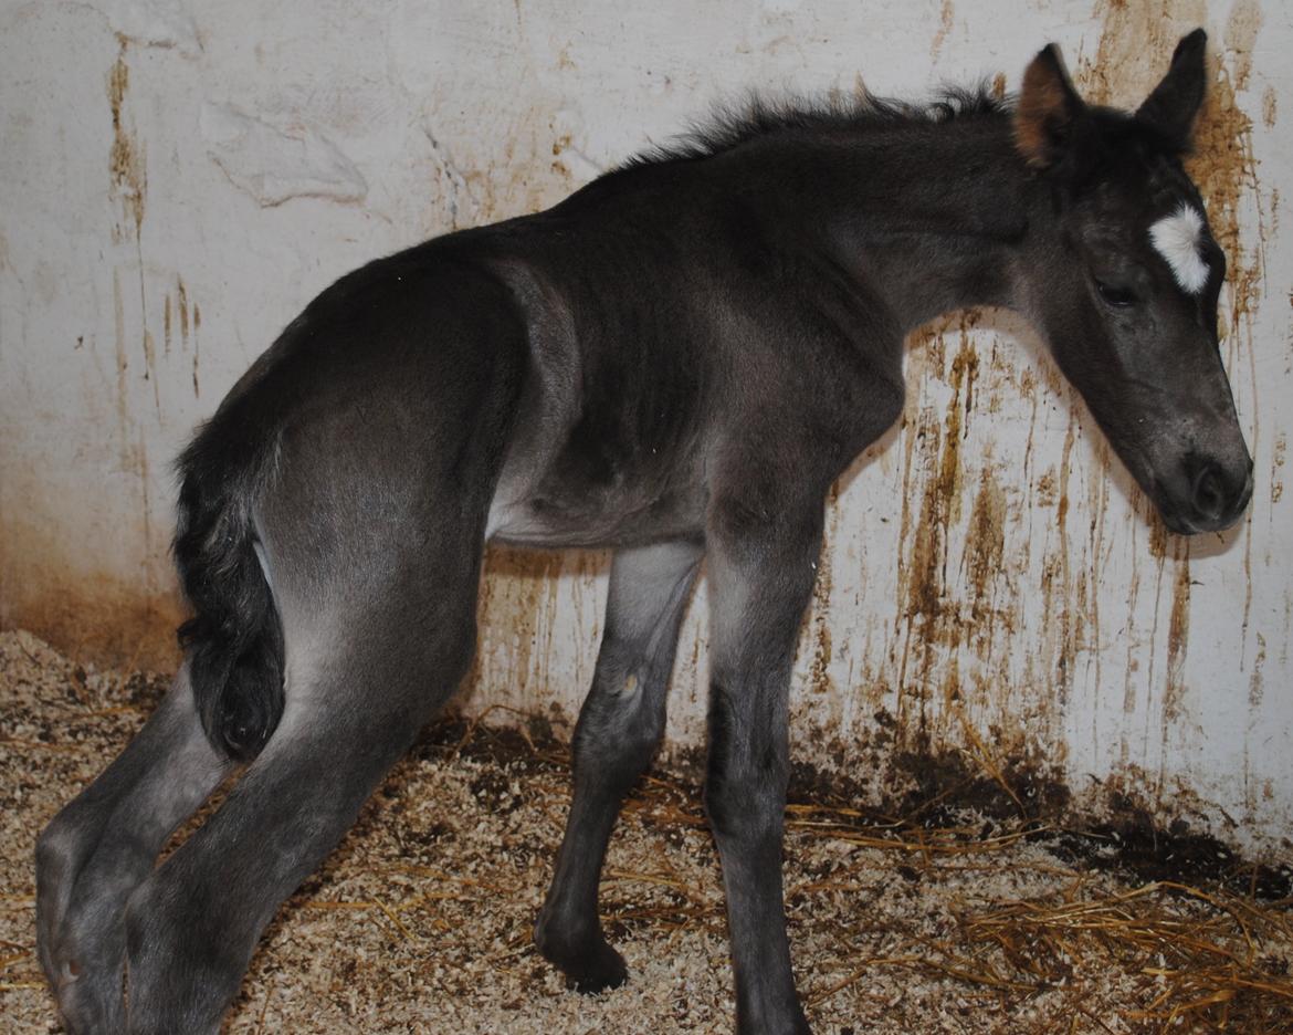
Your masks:
M250 761L283 714L283 629L252 520L273 436L255 441L229 417L217 414L180 457L175 559L195 612L180 644L202 728L216 750Z

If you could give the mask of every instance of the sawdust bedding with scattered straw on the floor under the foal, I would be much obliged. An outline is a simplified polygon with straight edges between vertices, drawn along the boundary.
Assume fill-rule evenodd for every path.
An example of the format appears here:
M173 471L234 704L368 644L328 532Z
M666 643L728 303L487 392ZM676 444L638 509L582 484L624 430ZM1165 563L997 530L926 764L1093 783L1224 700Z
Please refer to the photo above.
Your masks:
M5 1031L61 1030L35 959L36 833L164 684L0 634ZM659 775L625 810L603 910L631 979L597 996L566 991L530 942L568 803L560 743L462 719L429 730L279 912L225 1031L729 1031L696 787ZM815 1031L1293 1032L1288 899L1146 882L1036 822L940 816L790 807L790 933Z

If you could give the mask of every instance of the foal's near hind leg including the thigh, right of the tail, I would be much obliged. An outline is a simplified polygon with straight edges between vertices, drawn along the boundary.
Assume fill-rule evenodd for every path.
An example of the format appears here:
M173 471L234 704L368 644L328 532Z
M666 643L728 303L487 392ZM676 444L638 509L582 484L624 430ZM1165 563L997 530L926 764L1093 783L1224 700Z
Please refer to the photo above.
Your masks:
M221 807L131 897L131 1032L219 1030L282 900L471 664L507 400L446 398L416 442L383 423L403 408L379 402L359 430L337 409L284 436L256 505L283 712Z

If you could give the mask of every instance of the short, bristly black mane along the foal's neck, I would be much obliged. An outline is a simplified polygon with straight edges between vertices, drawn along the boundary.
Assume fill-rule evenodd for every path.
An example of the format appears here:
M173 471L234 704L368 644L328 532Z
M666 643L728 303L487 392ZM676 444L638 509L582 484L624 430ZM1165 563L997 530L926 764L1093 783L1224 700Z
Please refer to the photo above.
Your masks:
M934 100L923 104L871 94L855 100L830 97L806 102L793 97L771 100L754 93L740 105L719 105L709 120L667 144L634 155L621 168L710 158L772 133L893 129L994 119L1012 110L1012 100L999 97L987 83L972 88L945 87Z

